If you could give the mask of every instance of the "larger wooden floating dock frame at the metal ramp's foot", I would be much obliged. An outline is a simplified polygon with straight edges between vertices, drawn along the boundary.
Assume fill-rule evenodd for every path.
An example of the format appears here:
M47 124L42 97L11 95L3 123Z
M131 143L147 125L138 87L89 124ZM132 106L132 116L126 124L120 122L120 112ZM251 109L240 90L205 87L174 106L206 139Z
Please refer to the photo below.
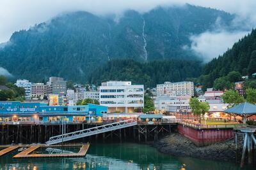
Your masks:
M61 146L61 145L54 145ZM64 146L74 146L74 145L64 145ZM34 145L30 146L28 149L14 155L13 158L39 158L39 157L83 157L86 155L90 144L82 144L78 153L51 153L51 154L29 154L40 147L48 147L48 145ZM52 147L52 146L51 146Z

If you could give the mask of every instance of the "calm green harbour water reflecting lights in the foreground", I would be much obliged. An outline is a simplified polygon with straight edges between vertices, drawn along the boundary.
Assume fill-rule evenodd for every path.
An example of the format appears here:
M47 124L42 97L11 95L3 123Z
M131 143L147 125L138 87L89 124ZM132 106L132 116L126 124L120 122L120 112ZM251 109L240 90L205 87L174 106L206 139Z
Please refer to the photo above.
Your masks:
M137 143L92 143L86 157L79 158L12 159L15 153L0 157L0 169L180 169L182 164L196 170L239 169L228 162L173 157Z

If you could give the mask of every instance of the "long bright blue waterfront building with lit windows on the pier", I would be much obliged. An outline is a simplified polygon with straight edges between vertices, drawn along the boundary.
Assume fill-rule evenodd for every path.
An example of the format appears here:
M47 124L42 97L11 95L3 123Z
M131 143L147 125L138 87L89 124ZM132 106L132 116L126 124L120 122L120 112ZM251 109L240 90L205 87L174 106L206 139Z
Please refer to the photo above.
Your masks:
M47 106L45 103L0 102L0 122L82 122L98 121L107 113L107 106L88 104L83 106Z

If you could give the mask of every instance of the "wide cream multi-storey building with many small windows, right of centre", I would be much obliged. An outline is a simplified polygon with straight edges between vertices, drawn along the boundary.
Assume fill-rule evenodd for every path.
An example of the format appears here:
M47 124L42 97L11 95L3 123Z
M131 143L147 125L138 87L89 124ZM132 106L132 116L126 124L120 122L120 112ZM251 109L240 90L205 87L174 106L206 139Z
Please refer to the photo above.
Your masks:
M156 87L157 96L166 94L169 96L194 96L194 83L192 81L169 82L158 84Z

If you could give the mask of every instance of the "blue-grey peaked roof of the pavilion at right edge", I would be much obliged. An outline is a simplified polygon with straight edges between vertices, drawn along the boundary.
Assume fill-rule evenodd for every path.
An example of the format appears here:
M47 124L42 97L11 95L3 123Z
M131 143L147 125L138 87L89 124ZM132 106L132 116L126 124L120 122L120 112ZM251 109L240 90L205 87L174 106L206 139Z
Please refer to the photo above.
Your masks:
M256 105L248 102L244 102L224 110L226 113L236 113L237 115L253 115L256 114Z

